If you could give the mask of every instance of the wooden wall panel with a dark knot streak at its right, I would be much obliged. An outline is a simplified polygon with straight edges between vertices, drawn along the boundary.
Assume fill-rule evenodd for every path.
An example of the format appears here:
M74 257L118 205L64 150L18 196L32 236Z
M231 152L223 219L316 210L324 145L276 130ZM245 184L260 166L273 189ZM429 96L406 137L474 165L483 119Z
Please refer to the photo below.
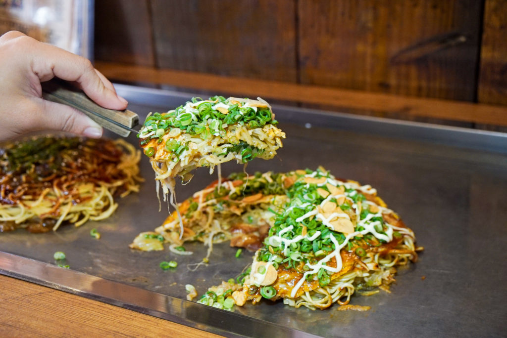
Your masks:
M302 83L475 99L480 1L300 0L298 13Z

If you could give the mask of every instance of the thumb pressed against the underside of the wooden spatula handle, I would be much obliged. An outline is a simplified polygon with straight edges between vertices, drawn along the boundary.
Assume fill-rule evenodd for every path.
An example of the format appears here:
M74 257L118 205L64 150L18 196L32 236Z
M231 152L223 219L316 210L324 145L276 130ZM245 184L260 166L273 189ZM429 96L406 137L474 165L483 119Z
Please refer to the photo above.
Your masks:
M56 130L94 139L102 136L102 127L79 110L42 100L39 129Z

